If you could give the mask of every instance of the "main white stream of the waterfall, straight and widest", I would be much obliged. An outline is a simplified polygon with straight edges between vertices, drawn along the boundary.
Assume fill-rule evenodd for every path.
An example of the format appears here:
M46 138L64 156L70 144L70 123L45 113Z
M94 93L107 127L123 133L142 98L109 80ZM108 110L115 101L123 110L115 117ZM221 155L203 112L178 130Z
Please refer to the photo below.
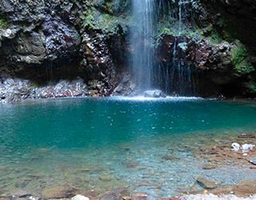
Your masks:
M131 68L138 90L149 90L152 86L154 67L154 0L133 0L135 26L131 29L133 49Z

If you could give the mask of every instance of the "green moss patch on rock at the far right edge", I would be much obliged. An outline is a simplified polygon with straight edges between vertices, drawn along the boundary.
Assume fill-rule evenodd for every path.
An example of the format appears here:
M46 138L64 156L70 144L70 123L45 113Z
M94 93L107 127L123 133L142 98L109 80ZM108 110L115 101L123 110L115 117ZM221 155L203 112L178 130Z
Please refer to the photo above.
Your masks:
M253 72L254 66L251 65L248 59L248 50L241 42L236 41L236 47L231 50L232 63L234 65L234 73L238 76Z

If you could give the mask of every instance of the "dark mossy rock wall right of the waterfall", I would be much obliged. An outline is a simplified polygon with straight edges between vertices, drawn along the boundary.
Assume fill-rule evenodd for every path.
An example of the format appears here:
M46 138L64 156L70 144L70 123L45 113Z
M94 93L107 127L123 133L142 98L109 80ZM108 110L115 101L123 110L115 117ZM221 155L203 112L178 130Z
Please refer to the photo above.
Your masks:
M182 31L169 27L160 31L158 61L168 67L178 41L185 48L178 47L181 53L176 56L194 71L198 95L255 97L255 8L252 1L202 0L182 5ZM175 10L173 18L179 15Z

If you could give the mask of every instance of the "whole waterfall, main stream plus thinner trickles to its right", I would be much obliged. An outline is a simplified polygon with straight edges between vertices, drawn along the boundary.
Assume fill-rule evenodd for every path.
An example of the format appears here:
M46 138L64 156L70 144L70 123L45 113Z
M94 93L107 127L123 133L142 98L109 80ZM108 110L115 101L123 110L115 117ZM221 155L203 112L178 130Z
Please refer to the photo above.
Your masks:
M131 69L139 91L160 89L166 94L194 94L193 74L184 53L186 41L181 37L186 4L190 2L133 0L135 25L131 28L130 37L133 50ZM154 54L154 36L163 18L167 21L174 19L170 29L178 32L170 47L172 61L167 64L159 63Z

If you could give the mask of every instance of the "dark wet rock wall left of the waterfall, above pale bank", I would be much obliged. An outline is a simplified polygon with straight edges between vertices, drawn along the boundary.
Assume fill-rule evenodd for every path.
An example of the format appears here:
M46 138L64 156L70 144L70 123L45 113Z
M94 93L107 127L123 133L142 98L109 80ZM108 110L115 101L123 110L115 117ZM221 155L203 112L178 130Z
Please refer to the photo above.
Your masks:
M103 6L97 8L102 13L107 11L106 2L94 4ZM121 2L112 4L114 10L124 9ZM97 95L109 95L120 78L116 66L124 63L125 34L121 26L105 33L85 25L85 13L90 18L95 9L91 5L74 0L1 0L0 19L4 16L8 26L0 27L0 77L42 82L79 76L98 82Z

